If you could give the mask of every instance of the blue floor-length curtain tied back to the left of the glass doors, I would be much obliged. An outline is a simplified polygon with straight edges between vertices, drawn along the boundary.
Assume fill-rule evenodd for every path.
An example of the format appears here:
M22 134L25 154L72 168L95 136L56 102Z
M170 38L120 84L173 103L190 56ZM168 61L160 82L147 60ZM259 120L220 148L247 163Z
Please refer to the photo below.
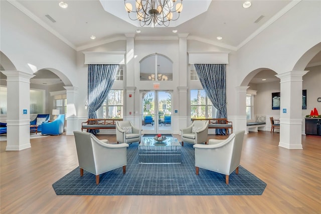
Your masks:
M96 111L101 107L114 83L119 65L88 65L88 118L97 118ZM97 134L98 129L89 130Z

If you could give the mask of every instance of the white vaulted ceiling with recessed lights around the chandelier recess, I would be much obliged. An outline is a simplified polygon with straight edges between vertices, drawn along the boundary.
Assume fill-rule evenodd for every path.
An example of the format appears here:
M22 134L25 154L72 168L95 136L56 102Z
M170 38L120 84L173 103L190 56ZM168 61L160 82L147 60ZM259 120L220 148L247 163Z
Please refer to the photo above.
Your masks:
M126 34L136 34L135 30L137 29L141 30L141 33L136 34L136 38L166 38L178 37L177 34L188 34L188 39L237 50L300 1L256 0L251 1L250 8L244 9L242 8L244 1L241 0L213 0L210 1L207 11L190 20L184 18L187 21L176 27L155 28L136 27L124 21L127 12L124 9L123 0L101 0L105 8L110 7L110 10L114 11L113 14L119 14L121 18L106 12L99 0L66 0L67 9L60 8L58 6L60 1L57 0L9 2L66 44L80 51L124 38ZM181 16L193 14L191 10L198 10L197 4L207 4L208 2L205 0L184 0ZM187 7L184 7L184 4ZM196 4L195 7L193 4ZM202 10L204 9L202 8ZM46 15L51 16L56 22L51 22ZM255 23L260 16L264 16L263 19ZM173 33L174 29L178 30L178 33ZM96 39L91 40L91 35L96 36ZM223 39L217 40L218 36ZM33 79L35 80L32 81L36 81L36 79L38 79L37 82L41 81L40 78ZM45 81L45 78L43 80ZM51 84L48 80L46 81L47 84ZM59 80L55 79L52 83L56 81Z

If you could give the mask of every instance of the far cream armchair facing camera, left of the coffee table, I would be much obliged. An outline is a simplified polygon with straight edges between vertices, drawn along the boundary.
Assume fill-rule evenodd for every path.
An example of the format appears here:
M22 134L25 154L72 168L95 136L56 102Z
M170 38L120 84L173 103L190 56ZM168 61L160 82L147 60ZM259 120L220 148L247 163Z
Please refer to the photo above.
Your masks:
M135 128L130 121L116 121L117 143L140 143L141 130Z

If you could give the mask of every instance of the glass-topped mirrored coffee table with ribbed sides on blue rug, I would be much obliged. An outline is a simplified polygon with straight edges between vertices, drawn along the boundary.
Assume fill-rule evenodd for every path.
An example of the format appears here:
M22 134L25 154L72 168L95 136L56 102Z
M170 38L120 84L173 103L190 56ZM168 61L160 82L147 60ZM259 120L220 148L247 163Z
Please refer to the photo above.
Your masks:
M157 142L152 137L142 137L138 146L138 161L144 164L181 163L181 144L173 137L163 142Z

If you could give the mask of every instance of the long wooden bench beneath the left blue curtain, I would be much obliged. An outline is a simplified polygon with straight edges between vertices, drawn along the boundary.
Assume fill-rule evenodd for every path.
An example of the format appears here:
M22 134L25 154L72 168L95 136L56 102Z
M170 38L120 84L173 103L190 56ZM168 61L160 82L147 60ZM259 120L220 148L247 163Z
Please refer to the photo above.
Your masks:
M90 129L116 129L116 121L122 121L122 119L88 119L81 123L81 131L84 129L87 132Z

